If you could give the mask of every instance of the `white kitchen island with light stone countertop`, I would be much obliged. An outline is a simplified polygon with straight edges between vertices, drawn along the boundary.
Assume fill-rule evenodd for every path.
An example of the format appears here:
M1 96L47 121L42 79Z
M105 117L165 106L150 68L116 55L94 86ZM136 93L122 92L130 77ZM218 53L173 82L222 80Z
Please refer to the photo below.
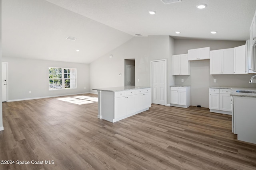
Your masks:
M122 86L92 90L98 91L99 119L116 122L151 107L150 87Z

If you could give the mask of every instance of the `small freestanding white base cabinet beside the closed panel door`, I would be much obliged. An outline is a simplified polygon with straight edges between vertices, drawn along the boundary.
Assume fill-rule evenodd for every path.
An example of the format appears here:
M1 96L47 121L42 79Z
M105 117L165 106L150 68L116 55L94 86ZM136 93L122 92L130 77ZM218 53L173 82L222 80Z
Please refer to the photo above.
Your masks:
M184 108L190 106L190 86L171 87L171 106Z

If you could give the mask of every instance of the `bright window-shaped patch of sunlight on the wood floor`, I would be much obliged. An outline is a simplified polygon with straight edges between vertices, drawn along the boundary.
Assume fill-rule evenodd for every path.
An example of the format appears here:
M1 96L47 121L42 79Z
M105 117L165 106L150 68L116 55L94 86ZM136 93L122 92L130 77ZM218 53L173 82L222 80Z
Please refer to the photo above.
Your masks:
M68 98L58 98L57 100L61 100L64 102L69 102L73 104L88 104L98 102L98 98L90 97L90 96L74 96Z

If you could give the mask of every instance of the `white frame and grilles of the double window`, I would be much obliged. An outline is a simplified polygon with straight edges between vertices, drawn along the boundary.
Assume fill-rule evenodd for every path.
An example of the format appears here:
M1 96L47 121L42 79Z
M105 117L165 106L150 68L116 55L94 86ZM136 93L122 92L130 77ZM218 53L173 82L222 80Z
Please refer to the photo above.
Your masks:
M49 70L50 69L61 69L61 78L59 78L59 76L57 76L57 78L50 78L50 72ZM69 70L69 73L64 73L64 70ZM72 71L70 70L73 70L75 73L75 77L74 78L71 78L70 74L72 74ZM67 74L66 78L65 78L65 74ZM68 77L69 75L69 77ZM62 88L50 88L50 80L56 80L56 81L61 81L61 87ZM66 88L66 80L69 80L69 87ZM70 80L73 80L72 81L72 84L74 86L74 88L70 88L71 84L70 84ZM64 68L64 67L48 67L48 90L49 91L52 91L52 90L66 90L66 89L76 89L77 88L77 69L76 68Z

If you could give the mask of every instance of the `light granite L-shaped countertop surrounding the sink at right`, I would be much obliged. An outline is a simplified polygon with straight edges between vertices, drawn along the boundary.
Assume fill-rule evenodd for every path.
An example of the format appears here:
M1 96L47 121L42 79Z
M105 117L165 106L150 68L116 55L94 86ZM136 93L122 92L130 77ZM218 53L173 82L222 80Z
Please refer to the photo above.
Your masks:
M238 92L236 92L236 90L256 91L256 88L244 88L244 87L210 87L210 88L231 89L230 96L256 98L256 93L240 93L240 92L238 93Z

